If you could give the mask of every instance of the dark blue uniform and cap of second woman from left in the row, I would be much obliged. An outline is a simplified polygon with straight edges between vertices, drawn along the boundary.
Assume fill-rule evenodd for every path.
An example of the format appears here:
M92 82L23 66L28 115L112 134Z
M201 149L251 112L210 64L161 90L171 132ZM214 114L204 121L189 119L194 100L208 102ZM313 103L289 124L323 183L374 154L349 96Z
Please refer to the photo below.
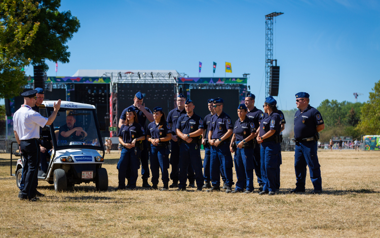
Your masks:
M162 112L161 107L156 107L154 112ZM168 134L172 132L169 123L165 122L164 125L161 123L156 124L156 121L151 122L146 130L146 135L149 135L151 139L165 138ZM167 188L169 183L169 141L160 142L158 145L150 145L150 171L151 171L151 183L153 187L157 187L160 177L161 169L161 179L164 183L164 188Z

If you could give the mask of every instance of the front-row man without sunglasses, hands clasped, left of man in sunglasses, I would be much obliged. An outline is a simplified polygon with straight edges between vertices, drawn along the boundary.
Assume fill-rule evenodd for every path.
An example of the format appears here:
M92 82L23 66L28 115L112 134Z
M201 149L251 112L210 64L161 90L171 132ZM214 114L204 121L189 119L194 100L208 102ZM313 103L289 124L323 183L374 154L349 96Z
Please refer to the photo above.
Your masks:
M186 114L177 120L177 139L179 145L179 185L178 191L186 190L187 168L191 165L197 181L197 191L202 191L203 174L201 144L203 134L202 117L194 113L191 99L185 101Z

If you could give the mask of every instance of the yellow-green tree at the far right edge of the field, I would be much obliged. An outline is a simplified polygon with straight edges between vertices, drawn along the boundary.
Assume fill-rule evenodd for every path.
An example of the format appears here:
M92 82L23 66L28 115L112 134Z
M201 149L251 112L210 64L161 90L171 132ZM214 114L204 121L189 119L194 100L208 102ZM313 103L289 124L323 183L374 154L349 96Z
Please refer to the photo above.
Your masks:
M364 134L380 134L380 80L375 83L369 100L361 108L357 129Z

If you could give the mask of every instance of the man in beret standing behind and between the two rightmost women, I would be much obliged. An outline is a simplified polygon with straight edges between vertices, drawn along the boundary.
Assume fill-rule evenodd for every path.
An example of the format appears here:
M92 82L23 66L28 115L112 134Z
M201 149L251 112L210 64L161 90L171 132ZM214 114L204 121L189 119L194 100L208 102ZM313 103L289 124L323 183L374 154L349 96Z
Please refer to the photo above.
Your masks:
M252 93L247 93L247 96L245 97L245 106L247 107L247 110L248 110L247 117L251 119L253 121L253 124L255 125L255 128L256 128L255 138L256 138L259 131L258 128L260 126L260 121L264 113L255 107L255 95ZM262 191L263 183L261 180L260 145L257 143L256 140L255 140L255 147L253 150L254 150L253 158L255 160L255 163L254 163L255 174L257 177L257 183L259 185L259 191Z

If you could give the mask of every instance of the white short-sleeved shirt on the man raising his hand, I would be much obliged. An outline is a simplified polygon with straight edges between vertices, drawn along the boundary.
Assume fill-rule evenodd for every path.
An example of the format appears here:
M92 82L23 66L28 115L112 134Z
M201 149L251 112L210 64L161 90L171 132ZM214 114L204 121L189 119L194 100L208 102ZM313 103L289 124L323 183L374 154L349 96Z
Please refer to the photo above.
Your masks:
M27 105L22 105L13 114L13 130L17 131L20 140L39 139L40 126L44 127L48 118L41 116Z

